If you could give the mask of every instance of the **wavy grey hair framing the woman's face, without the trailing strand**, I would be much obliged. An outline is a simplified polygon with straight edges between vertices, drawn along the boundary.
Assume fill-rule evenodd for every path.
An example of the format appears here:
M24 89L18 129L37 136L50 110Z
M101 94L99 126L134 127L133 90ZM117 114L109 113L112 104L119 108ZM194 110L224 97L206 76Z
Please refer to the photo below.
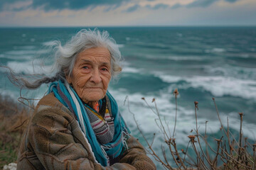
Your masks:
M121 54L118 45L106 30L101 33L97 29L83 29L64 46L61 46L60 42L55 43L58 44L55 47L57 49L55 52L55 68L58 72L64 71L65 74L70 76L78 54L92 47L106 47L110 51L112 76L116 76L122 71L122 68L119 66Z

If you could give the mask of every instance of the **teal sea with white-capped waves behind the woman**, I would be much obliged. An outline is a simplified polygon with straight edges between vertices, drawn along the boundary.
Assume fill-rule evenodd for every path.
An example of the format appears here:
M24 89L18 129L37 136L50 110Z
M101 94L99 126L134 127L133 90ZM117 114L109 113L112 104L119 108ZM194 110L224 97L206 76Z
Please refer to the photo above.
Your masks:
M11 67L16 74L42 74L53 64L53 41L65 45L81 29L0 28L0 64ZM107 30L119 45L122 73L110 82L108 90L117 100L132 135L145 148L148 146L144 137L149 145L154 138L155 152L162 155L164 148L170 154L159 128L161 118L166 132L176 138L178 151L186 149L188 135L196 134L195 111L198 131L204 134L207 129L209 140L213 141L209 143L215 145L214 139L222 137L223 130L213 98L225 128L229 125L238 137L238 113L243 113L242 135L256 141L256 27L98 29ZM40 99L46 94L47 85L20 92L6 71L0 67L1 96ZM175 89L179 93L176 98ZM172 159L169 161L174 164Z

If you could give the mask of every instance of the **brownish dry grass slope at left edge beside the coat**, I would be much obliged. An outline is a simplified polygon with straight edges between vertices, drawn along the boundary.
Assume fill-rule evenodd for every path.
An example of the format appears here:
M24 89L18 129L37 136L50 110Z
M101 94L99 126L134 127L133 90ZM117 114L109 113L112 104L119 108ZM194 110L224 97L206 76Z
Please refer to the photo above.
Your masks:
M29 112L11 98L0 96L0 169L5 164L16 162Z

